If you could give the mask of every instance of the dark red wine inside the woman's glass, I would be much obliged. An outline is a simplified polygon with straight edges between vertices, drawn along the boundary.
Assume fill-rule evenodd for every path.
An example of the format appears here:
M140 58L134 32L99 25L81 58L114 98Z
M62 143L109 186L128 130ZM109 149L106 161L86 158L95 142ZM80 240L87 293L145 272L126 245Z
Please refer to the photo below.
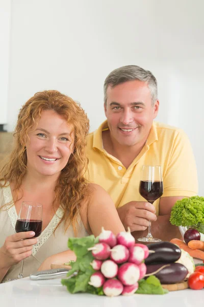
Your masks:
M42 221L37 220L17 220L15 226L16 232L34 231L33 238L38 237L42 232Z

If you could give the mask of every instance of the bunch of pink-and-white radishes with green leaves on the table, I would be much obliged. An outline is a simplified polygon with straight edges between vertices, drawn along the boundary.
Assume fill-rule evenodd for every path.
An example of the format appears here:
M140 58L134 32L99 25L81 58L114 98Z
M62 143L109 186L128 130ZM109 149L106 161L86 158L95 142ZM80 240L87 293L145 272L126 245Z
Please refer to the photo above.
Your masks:
M168 292L157 277L142 279L146 274L144 259L149 256L149 249L135 244L130 229L117 236L103 229L96 239L93 235L69 238L68 247L77 255L77 260L70 263L72 269L67 274L70 278L62 279L70 293L117 296ZM78 274L73 276L75 272Z

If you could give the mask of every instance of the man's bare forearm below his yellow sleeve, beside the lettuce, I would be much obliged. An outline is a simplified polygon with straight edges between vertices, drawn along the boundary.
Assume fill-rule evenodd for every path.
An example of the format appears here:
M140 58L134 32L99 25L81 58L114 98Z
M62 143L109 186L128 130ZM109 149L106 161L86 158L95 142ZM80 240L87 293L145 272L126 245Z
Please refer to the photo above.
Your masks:
M160 199L159 204L159 216L157 221L151 223L151 234L156 238L160 238L163 241L170 241L172 238L182 239L179 227L171 225L169 222L171 208L176 201L182 200L186 196L171 196L163 197ZM146 236L148 229L145 231L134 231L132 234L136 239Z

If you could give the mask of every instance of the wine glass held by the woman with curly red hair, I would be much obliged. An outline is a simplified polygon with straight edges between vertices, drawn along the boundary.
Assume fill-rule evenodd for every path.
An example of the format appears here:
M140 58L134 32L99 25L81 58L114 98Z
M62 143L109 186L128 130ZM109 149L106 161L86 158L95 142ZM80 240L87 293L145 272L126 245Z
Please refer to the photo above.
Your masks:
M15 231L34 231L35 235L33 237L38 237L42 232L42 205L35 202L22 202ZM23 278L23 264L24 259L21 261L18 278Z

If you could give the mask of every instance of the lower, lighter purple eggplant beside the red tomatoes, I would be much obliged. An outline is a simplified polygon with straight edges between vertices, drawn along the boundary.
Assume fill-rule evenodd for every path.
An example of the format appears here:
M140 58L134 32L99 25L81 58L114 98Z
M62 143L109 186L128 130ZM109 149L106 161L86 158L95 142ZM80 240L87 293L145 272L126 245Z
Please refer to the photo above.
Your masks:
M151 274L162 268L163 266L166 266L161 271L155 274ZM146 274L155 275L161 283L163 284L169 284L169 283L176 283L181 282L185 279L185 277L188 274L188 270L185 266L179 263L170 263L168 264L160 264L160 265L148 265L146 266L147 271Z

